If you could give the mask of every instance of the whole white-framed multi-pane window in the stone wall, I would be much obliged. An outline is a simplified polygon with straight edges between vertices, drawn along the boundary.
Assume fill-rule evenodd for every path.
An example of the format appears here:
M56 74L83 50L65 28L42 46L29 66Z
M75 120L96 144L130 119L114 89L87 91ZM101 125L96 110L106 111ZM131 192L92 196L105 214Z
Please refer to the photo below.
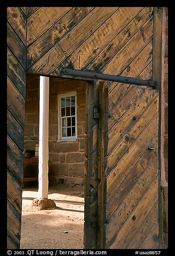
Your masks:
M57 141L77 139L76 91L58 95L59 138Z

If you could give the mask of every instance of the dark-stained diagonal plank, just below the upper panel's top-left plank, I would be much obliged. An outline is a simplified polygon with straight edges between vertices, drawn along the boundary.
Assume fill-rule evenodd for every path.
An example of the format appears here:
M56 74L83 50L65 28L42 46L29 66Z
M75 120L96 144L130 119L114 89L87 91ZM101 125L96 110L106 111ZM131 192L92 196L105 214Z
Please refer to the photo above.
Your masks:
M27 48L27 68L52 48L68 31L75 27L93 8L74 7Z

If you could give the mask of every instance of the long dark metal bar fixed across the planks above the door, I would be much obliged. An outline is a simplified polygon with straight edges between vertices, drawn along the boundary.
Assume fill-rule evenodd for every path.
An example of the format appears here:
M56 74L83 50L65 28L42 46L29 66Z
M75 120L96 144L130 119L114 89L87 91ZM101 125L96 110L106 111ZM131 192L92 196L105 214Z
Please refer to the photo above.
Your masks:
M156 87L157 85L157 81L152 81L152 80L141 80L133 77L107 75L107 74L94 73L94 72L70 69L70 68L63 68L62 72L64 75L81 76L81 77L88 77L93 79L101 79L101 80L108 80L108 81L121 82L121 83L132 83L140 86Z

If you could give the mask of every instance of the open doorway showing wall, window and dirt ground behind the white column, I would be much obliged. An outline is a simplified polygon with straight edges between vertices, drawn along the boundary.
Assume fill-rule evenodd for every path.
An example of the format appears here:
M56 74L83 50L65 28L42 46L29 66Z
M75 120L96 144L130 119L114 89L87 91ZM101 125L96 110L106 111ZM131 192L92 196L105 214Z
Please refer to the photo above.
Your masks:
M20 248L83 248L86 81L49 78L48 198L56 207L36 211L39 79L26 74Z

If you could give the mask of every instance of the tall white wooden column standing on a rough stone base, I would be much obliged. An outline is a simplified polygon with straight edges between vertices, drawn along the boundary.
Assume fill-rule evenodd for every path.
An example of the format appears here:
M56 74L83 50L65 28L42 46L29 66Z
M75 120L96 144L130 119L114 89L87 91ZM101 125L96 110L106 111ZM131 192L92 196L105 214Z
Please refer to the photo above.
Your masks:
M40 76L38 198L48 198L49 77Z

